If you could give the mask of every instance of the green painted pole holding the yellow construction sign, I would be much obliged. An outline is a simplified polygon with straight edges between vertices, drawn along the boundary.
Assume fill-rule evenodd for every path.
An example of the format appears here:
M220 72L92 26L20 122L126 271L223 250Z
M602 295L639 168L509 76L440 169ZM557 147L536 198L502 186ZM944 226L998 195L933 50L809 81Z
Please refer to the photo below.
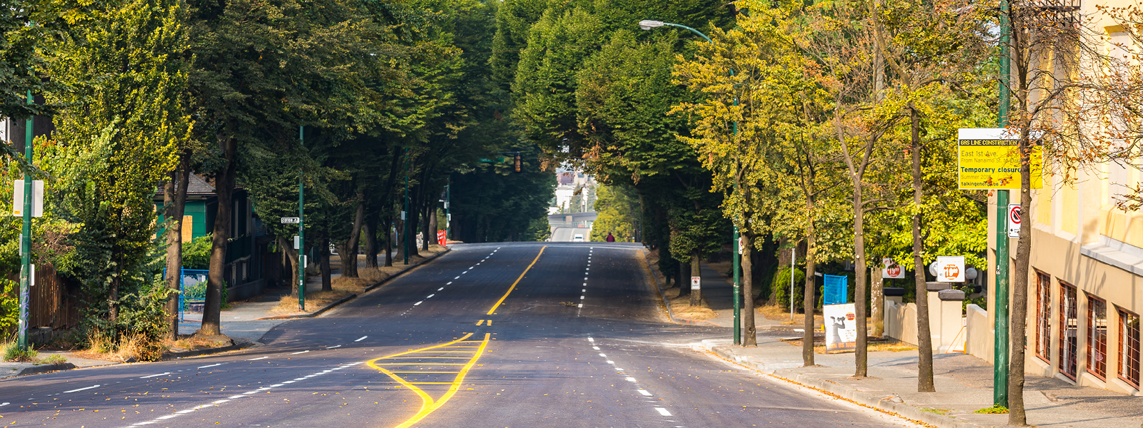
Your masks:
M1012 24L1008 22L1008 2L1000 2L1000 112L999 127L1008 124L1008 82L1012 64L1008 60L1008 45ZM996 337L992 358L992 404L1008 406L1008 191L997 191L997 268L994 273ZM1023 344L1018 344L1021 346Z

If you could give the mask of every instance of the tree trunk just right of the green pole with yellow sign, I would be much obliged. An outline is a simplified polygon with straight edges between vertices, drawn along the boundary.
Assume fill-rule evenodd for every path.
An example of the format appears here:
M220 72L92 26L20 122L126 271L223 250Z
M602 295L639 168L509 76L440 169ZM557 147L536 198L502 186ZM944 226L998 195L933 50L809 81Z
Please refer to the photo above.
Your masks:
M1029 168L1028 127L1020 136L1020 212L1023 218L1032 217L1032 172ZM1024 341L1028 337L1028 270L1032 253L1031 224L1020 228L1016 241L1016 267L1012 281L1012 313L1009 338L1012 360L1008 362L1008 425L1028 426L1024 412Z

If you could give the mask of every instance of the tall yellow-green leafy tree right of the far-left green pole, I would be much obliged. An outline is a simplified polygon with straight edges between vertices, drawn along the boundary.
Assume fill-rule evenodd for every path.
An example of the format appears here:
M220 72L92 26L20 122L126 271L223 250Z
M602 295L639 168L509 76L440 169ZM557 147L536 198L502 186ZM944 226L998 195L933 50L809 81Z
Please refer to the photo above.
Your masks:
M54 33L45 68L70 88L49 94L65 105L55 116L46 167L61 179L63 212L81 224L74 235L78 269L89 312L118 342L119 336L144 331L157 338L167 329L130 326L136 304L166 300L153 289L154 184L174 169L175 148L189 137L184 112L187 41L185 8L174 0L126 0L79 9L67 16L69 32ZM93 138L93 130L101 134ZM89 158L91 155L97 159ZM161 269L159 270L161 273ZM102 301L102 304L97 304ZM120 307L130 312L120 320ZM158 310L161 310L160 305ZM150 315L146 315L150 316ZM163 320L161 314L157 320Z

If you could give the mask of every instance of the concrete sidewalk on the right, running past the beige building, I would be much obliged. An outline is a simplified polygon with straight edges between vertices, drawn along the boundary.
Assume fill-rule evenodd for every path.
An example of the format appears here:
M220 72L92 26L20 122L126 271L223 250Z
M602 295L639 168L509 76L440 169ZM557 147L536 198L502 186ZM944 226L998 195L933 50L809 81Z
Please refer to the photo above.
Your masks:
M708 272L710 270L710 272ZM717 276L714 276L717 275ZM726 284L726 285L722 285ZM703 268L703 293L719 316L709 320L733 325L733 285L714 269ZM727 289L722 292L721 289ZM973 413L992 405L992 365L967 354L934 355L936 393L917 393L917 352L869 353L869 378L853 379L854 354L814 354L817 365L802 368L801 346L785 337L801 337L781 321L756 315L758 347L732 345L725 338L704 340L703 347L724 358L776 378L836 394L936 427L1002 427L1007 414ZM1028 375L1024 386L1028 422L1037 427L1138 428L1143 423L1143 397L1104 389L1076 387L1060 379Z

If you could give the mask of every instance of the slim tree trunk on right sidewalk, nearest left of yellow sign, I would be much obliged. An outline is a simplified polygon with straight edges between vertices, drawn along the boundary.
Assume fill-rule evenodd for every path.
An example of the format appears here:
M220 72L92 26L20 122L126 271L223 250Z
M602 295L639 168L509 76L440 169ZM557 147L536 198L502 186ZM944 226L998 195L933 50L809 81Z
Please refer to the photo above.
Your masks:
M921 139L920 115L910 106L912 119L911 139L913 152L913 204L920 207L921 197ZM917 285L917 391L933 393L933 333L928 318L928 286L925 284L925 255L921 241L921 213L913 215L913 277Z

